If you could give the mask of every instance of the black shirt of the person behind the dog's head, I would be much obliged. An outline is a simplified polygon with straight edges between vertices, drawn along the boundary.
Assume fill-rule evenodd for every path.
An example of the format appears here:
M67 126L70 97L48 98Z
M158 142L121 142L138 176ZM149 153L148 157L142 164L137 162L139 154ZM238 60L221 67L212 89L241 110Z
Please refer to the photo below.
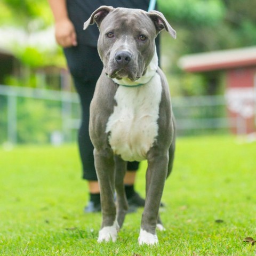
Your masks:
M78 44L97 47L99 29L97 25L83 30L84 22L101 5L142 9L147 11L149 0L66 0L70 20L73 22Z

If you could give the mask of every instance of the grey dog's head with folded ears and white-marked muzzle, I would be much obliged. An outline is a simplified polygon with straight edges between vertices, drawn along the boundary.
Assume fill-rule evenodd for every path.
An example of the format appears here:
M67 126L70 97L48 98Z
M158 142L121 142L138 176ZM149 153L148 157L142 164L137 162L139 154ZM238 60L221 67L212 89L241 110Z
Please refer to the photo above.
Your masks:
M100 30L98 52L105 73L111 78L136 81L153 59L156 36L165 29L176 37L175 30L158 11L101 6L84 23L84 29L94 22Z

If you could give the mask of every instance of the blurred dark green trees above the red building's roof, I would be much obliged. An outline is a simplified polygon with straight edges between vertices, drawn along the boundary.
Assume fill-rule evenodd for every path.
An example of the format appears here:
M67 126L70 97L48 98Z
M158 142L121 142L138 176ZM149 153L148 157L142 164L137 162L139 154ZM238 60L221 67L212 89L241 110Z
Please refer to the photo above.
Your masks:
M159 0L159 9L186 33L184 53L204 52L256 43L256 1Z

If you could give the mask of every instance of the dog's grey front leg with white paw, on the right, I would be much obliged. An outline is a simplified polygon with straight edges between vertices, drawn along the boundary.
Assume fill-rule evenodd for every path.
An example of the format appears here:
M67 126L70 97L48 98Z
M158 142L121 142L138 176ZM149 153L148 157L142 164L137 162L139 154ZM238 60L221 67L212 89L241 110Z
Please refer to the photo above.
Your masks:
M154 153L149 154L146 174L146 203L142 214L139 244L153 245L158 243L156 225L167 175L168 160L167 152L154 150Z

